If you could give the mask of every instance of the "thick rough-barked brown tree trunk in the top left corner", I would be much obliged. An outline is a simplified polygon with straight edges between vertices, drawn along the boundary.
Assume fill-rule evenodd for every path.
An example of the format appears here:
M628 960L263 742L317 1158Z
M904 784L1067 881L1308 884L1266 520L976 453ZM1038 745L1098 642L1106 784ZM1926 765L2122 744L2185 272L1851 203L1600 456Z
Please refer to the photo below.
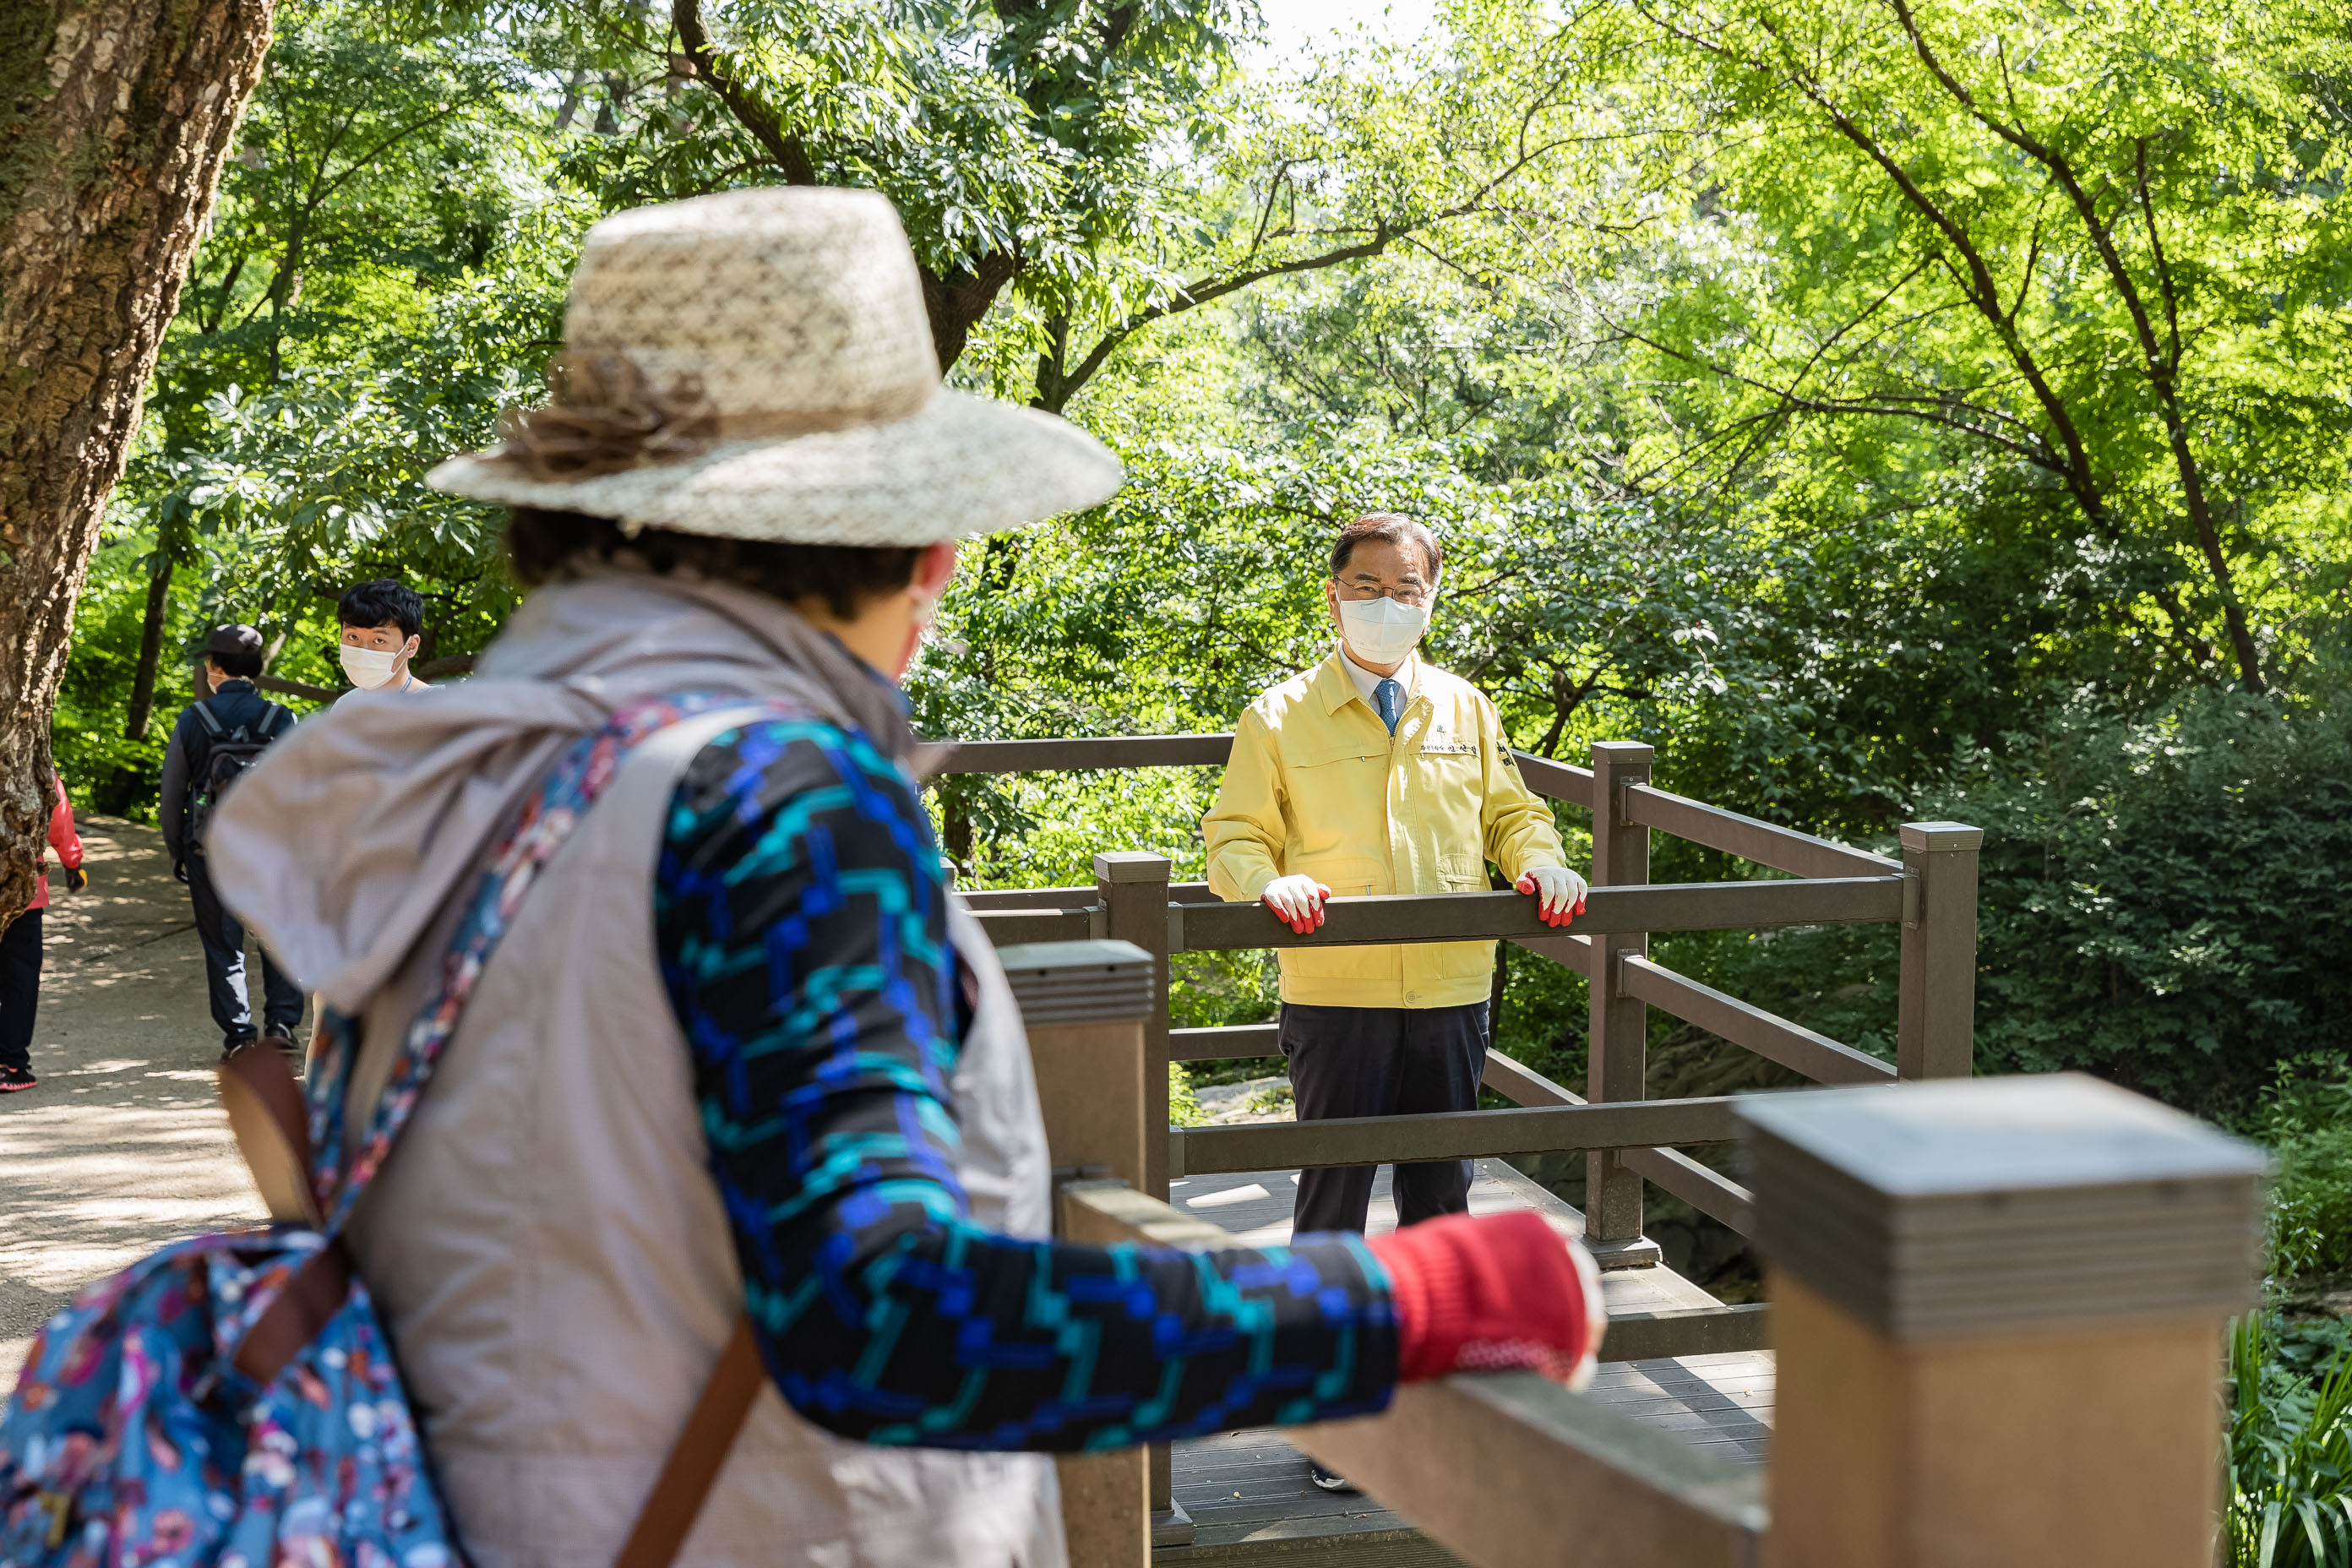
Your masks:
M99 515L270 0L9 0L0 33L0 912L33 896L49 712Z

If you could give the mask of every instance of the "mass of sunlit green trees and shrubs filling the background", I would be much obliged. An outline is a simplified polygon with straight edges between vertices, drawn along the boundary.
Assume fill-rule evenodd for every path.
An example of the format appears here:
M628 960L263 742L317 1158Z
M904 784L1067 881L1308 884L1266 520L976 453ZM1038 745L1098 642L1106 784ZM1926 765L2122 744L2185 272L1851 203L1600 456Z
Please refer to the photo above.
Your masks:
M1331 529L1406 510L1449 552L1432 656L1517 743L1649 741L1668 788L1879 849L1980 823L1980 1063L2244 1119L2352 1030L2340 24L1456 0L1428 42L1249 73L1237 0L303 0L92 569L59 755L85 799L153 769L214 618L339 684L358 576L426 592L428 656L477 649L513 602L499 517L421 475L534 395L579 233L804 160L898 202L960 383L1129 463L1110 505L967 552L927 733L1223 729L1329 646ZM2270 696L2216 696L2239 625ZM1073 886L1098 849L1200 877L1214 788L936 804L967 884ZM1656 875L1752 872L1661 839ZM1658 952L1891 1053L1891 929ZM1178 1020L1268 1018L1272 973L1188 957ZM1583 1013L1578 976L1505 952L1503 1048L1576 1084ZM1663 1018L1653 1044L1691 1051ZM2310 1138L2281 1166L2319 1192Z

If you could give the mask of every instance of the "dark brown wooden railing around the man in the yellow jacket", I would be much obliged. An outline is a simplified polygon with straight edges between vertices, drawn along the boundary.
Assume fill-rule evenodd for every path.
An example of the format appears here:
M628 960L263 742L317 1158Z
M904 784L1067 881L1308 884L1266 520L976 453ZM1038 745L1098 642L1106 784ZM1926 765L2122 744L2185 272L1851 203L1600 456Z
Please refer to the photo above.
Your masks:
M1232 736L1089 736L1063 741L967 741L941 773L1047 769L1216 766ZM1171 1128L1143 1173L1143 1192L1167 1197L1171 1173L1359 1166L1395 1159L1585 1152L1585 1225L1611 1267L1656 1262L1642 1234L1642 1182L1748 1232L1752 1197L1677 1145L1731 1135L1722 1100L1646 1100L1649 1009L1698 1025L1816 1084L1891 1084L1969 1077L1976 1006L1976 853L1983 835L1959 823L1903 827L1889 860L1832 839L1670 795L1649 783L1651 748L1599 743L1592 766L1515 752L1519 776L1548 799L1592 813L1592 891L1573 931L1555 931L1519 893L1399 893L1334 898L1324 924L1298 936L1256 903L1223 903L1207 884L1169 882L1162 856L1096 856L1091 889L978 891L967 900L1000 947L1117 938L1155 959L1160 1011L1145 1030L1150 1117L1167 1121L1169 1060L1272 1056L1270 1023L1171 1030L1169 954L1249 947L1345 947L1374 943L1510 940L1590 980L1590 1103L1501 1056L1486 1088L1519 1110L1301 1121L1237 1128ZM1668 832L1792 879L1651 884L1649 835ZM1828 924L1900 924L1896 1063L1839 1044L1766 1009L1675 973L1649 957L1649 936ZM1689 1324L1691 1342L1715 1345L1719 1326ZM1755 1333L1755 1331L1752 1331Z

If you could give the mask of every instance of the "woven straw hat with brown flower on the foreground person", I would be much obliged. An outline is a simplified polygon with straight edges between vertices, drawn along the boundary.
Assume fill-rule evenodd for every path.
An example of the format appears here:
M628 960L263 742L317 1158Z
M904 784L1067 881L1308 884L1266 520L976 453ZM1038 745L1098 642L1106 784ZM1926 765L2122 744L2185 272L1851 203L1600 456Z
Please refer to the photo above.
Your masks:
M922 277L873 190L727 190L588 230L543 409L426 484L635 529L927 545L1108 498L1051 414L938 386Z

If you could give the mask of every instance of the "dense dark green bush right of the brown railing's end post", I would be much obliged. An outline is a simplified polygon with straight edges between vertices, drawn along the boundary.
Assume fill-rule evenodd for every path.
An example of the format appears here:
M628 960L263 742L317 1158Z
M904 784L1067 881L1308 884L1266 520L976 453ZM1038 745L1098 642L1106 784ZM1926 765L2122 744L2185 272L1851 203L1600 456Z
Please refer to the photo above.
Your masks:
M2352 712L2197 693L2051 715L1924 804L1985 827L1978 1070L2082 1067L2204 1114L2352 1048Z

